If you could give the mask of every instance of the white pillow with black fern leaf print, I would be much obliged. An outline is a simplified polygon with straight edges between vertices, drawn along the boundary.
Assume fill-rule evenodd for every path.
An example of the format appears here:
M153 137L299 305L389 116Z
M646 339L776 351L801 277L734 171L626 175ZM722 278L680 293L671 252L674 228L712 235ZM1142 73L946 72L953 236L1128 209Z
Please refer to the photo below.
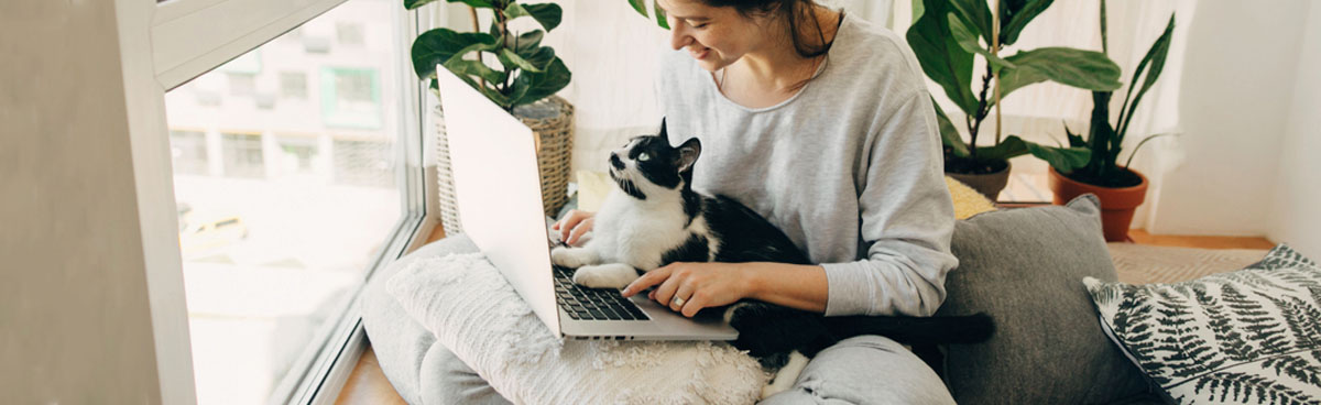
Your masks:
M1178 404L1321 404L1321 269L1288 245L1173 284L1085 278L1100 323Z

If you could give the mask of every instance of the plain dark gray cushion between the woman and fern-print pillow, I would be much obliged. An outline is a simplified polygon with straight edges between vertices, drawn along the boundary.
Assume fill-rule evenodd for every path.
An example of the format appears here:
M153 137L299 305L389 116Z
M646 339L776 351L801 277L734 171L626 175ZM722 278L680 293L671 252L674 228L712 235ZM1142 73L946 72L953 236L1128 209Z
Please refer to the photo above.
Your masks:
M1098 206L1089 194L958 222L959 266L937 314L984 311L996 321L991 340L947 348L945 379L959 404L1111 404L1148 392L1106 338L1082 284L1116 280Z

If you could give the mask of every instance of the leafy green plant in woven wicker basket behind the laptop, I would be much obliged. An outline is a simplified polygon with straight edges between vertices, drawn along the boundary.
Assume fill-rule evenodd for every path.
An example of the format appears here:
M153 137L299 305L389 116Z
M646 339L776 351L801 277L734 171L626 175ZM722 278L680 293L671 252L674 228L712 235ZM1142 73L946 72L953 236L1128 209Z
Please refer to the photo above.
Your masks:
M432 1L436 0L403 0L403 4L406 9L416 9ZM572 74L564 66L564 61L555 55L553 49L542 46L542 38L560 25L564 12L553 3L446 1L468 4L473 15L473 32L460 33L437 28L417 36L412 45L413 70L420 79L429 79L431 88L435 90L436 66L444 66L536 133L542 198L546 202L546 214L553 215L568 201L569 152L573 148L573 106L555 94L569 84ZM477 9L489 9L493 13L491 25L486 32L480 32L477 28ZM531 17L542 29L513 32L509 22L520 17ZM445 232L453 235L461 230L457 206L453 203L453 178L448 175L449 154L444 116L439 109L437 121L440 123L437 170L441 179L441 218Z

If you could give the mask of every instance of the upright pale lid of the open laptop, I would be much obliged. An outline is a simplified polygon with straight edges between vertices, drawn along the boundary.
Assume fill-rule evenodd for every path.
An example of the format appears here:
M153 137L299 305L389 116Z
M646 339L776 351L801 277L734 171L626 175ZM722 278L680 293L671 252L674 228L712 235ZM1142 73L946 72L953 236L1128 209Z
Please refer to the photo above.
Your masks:
M561 335L532 129L448 69L436 69L464 234Z

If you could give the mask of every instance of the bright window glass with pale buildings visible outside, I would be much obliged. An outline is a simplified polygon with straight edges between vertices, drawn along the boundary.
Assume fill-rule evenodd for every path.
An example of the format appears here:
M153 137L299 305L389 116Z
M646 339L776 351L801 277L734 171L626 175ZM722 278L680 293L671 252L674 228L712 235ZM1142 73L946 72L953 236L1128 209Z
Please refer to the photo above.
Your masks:
M285 402L403 218L402 16L349 0L165 95L198 404Z

